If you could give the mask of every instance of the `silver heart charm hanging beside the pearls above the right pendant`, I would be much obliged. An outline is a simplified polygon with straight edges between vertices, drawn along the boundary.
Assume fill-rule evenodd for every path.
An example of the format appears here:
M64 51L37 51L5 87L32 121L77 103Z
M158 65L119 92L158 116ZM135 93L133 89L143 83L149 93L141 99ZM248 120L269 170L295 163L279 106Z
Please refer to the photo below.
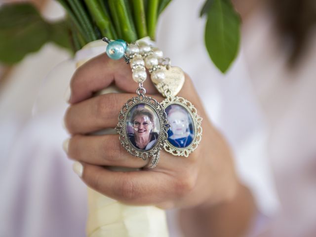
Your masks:
M179 67L169 67L169 69L163 67L163 69L164 79L161 82L154 84L159 93L161 93L164 97L176 96L184 84L184 72ZM171 94L166 95L165 92L168 89Z

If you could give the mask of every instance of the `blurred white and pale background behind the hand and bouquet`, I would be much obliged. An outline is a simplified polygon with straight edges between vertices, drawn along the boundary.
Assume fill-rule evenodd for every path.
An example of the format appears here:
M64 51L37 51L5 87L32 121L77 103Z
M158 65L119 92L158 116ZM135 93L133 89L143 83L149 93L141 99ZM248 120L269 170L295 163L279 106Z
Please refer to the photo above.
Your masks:
M1 0L0 9L13 2ZM47 21L65 16L56 1L31 2ZM316 1L234 0L241 45L225 75L204 47L203 2L173 0L157 44L192 77L231 144L239 178L257 201L251 236L315 237ZM60 45L0 62L0 237L85 236L85 186L62 151L64 98L79 56ZM15 50L25 46L16 42ZM169 218L171 237L174 223Z

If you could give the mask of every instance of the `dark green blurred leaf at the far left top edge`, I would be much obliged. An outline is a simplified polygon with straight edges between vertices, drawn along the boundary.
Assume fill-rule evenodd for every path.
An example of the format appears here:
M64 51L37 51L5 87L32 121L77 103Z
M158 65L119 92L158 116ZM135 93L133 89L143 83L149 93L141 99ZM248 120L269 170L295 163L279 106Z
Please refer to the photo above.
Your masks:
M49 39L49 25L28 3L0 8L0 61L14 64L36 52Z

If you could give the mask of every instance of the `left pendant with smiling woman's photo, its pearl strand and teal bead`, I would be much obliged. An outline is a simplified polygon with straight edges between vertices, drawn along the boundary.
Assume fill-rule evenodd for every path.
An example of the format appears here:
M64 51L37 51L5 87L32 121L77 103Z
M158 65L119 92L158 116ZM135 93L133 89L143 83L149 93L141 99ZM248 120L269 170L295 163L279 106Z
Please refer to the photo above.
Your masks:
M147 73L142 54L151 48L137 43L126 44L123 40L103 40L108 42L108 56L115 60L123 57L126 63L130 64L133 80L139 84L136 90L138 96L129 99L118 115L118 125L115 129L118 131L120 143L131 155L144 160L150 158L145 168L154 168L168 137L170 125L162 105L146 96L146 89L143 87Z

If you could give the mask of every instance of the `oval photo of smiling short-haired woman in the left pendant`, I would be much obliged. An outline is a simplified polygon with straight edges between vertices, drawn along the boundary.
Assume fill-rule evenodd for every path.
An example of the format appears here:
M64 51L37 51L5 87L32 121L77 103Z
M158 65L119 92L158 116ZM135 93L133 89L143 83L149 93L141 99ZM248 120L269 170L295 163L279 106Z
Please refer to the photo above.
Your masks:
M151 149L158 140L160 131L156 112L146 104L138 104L127 116L126 132L133 146L139 150Z

